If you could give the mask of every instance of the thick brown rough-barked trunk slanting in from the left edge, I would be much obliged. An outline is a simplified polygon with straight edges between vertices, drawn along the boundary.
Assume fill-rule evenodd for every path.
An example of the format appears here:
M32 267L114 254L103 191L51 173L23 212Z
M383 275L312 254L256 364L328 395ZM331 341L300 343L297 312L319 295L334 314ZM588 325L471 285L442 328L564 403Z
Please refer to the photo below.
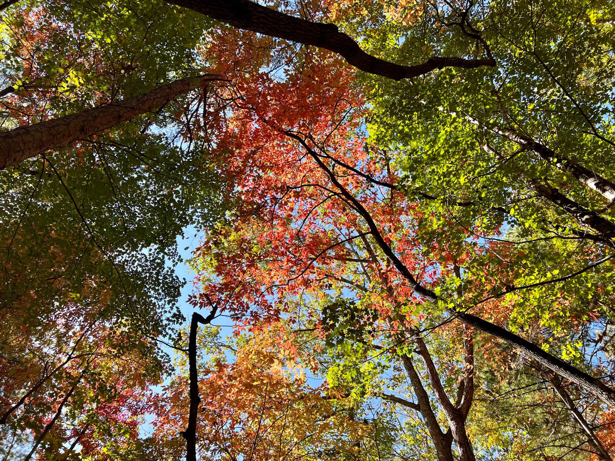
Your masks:
M143 95L87 109L38 124L0 132L0 170L47 151L64 148L153 111L181 93L207 85L215 76L192 77L162 85Z

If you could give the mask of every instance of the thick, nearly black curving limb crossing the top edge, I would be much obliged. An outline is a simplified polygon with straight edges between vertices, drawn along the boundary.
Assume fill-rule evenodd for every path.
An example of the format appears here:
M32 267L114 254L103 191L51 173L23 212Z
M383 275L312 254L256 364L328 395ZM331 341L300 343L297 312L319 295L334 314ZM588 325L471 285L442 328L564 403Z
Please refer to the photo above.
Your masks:
M467 60L433 57L423 64L402 66L364 52L357 42L339 32L337 26L333 24L296 18L250 0L167 0L167 2L202 13L238 29L330 50L338 53L357 69L394 80L409 79L444 67L472 69L496 65L493 58Z

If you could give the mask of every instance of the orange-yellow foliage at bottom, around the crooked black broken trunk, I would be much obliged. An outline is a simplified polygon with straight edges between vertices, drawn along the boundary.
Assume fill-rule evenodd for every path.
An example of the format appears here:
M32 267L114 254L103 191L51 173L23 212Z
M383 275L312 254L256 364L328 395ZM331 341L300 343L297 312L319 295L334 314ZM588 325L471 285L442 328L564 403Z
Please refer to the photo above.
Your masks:
M232 361L222 347L212 348L200 336L200 346L212 353L210 360L201 358L199 367L197 449L202 457L297 459L351 449L363 424L336 410L338 400L324 393L326 388L308 385L287 328L277 323L225 344L235 355ZM158 413L156 435L162 439L177 436L176 428L186 425L184 385L178 377L164 412Z

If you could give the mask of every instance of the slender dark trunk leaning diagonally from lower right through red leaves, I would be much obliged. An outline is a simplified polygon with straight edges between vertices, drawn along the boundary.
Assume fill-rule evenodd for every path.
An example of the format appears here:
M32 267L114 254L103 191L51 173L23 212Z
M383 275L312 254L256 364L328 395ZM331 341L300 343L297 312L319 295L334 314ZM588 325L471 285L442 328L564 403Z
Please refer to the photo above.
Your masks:
M301 136L296 135L292 132L284 132L290 138L298 141L304 149L308 152L308 154L314 159L317 165L322 168L327 176L329 177L331 183L338 189L340 194L346 199L352 207L359 213L360 216L363 217L365 223L370 229L370 233L378 246L381 248L385 256L392 262L397 270L399 270L402 277L407 280L408 285L413 288L419 296L423 297L427 301L437 302L438 296L434 293L434 291L429 290L429 288L421 285L416 278L412 275L408 267L403 264L403 262L397 257L397 255L392 250L391 246L389 246L384 240L383 236L380 234L378 226L374 222L373 218L371 218L370 213L363 207L363 205L357 200L354 195L352 195L339 181L335 176L335 173L324 164L322 159L318 156L318 154L314 151L314 149L310 148L308 143L306 143ZM476 317L475 315L459 312L454 308L447 308L448 312L453 315L455 318L458 318L459 321L462 321L466 325L474 326L480 331L484 331L485 333L490 334L491 336L497 337L502 341L510 344L517 350L525 353L528 358L533 358L538 361L542 366L549 368L551 371L556 372L558 375L565 377L566 379L574 382L579 385L581 388L587 390L587 392L593 393L600 400L603 400L607 403L611 408L615 408L615 391L609 388L606 384L601 382L598 379L590 376L589 374L575 368L569 363L561 360L560 358L554 357L542 350L537 345L523 339L520 336L517 336L514 333L510 333L504 328L501 328L490 321L483 320L480 317Z

